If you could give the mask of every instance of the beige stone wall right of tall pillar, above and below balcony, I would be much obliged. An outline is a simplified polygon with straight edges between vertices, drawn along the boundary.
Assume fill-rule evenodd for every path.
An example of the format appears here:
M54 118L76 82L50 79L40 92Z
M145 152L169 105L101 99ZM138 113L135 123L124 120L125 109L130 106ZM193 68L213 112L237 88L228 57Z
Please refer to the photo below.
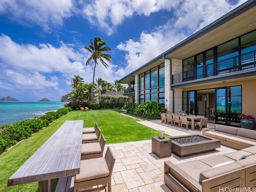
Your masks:
M182 60L172 59L172 73L180 73L182 72ZM174 91L174 103L173 101L173 91ZM182 111L182 89L174 89L170 90L170 100L168 101L170 104L170 112L172 112L172 108L174 107L174 113L178 113L179 111Z

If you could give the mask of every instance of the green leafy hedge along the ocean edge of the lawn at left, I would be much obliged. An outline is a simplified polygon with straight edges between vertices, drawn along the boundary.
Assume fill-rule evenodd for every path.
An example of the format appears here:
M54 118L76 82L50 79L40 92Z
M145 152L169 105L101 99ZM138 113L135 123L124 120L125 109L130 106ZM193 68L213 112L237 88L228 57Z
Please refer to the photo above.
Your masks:
M51 111L33 119L23 120L12 125L0 126L0 153L8 147L13 146L20 140L30 137L33 133L48 126L54 120L72 111L70 107L58 109L56 112Z

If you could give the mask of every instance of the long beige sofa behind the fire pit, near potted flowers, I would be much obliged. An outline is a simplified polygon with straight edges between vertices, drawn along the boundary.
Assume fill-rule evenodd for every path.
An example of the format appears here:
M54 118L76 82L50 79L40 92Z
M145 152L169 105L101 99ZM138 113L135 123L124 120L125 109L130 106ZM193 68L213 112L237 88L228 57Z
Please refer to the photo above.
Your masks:
M241 150L256 146L256 131L216 124L214 129L203 128L202 135L220 140L222 145Z

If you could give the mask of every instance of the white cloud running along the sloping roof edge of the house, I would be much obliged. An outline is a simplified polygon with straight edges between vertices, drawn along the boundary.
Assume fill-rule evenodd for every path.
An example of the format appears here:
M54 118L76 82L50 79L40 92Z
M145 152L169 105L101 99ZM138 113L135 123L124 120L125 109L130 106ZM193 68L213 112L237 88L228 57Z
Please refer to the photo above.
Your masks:
M245 0L231 5L225 0L180 1L178 6L174 7L174 18L164 26L159 26L151 33L142 32L138 40L129 39L117 46L117 49L126 52L128 65L116 73L122 74L123 77L136 70L243 2Z

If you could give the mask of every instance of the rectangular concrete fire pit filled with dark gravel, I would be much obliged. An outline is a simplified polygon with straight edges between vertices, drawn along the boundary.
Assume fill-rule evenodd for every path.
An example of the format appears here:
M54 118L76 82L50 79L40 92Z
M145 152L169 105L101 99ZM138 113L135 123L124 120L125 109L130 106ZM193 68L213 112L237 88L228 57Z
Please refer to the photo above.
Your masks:
M172 152L181 157L216 150L220 147L220 140L201 135L176 136L169 139L172 140Z

